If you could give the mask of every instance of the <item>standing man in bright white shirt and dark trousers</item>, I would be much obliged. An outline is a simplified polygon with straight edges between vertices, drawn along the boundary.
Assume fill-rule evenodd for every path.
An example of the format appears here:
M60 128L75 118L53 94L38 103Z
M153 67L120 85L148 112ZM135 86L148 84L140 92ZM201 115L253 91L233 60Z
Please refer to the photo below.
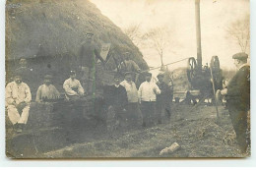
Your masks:
M146 81L140 85L138 91L144 127L155 125L156 122L156 99L157 94L160 94L160 88L151 80L152 74L146 73Z

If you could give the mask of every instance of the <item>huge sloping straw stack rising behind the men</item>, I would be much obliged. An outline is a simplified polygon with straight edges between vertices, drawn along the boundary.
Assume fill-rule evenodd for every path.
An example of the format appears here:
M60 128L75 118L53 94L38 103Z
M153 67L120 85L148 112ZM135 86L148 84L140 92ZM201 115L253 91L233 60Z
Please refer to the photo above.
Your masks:
M6 59L77 56L88 29L98 46L111 43L148 67L132 41L88 0L7 0Z

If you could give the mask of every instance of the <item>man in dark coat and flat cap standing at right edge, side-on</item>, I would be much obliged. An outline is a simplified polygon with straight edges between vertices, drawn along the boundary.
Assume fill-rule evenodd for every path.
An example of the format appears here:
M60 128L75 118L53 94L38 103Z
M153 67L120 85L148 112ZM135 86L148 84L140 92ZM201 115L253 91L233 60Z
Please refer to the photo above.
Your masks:
M246 53L236 53L232 58L238 71L227 85L227 107L236 140L241 151L245 153L250 144L250 66L247 65Z

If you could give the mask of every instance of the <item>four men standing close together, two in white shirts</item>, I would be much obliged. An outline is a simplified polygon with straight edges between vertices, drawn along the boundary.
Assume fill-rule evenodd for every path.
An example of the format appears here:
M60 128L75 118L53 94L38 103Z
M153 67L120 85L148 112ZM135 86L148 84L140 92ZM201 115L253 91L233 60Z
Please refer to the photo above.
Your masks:
M159 74L158 78L156 84L152 81L152 74L146 73L145 82L137 89L132 73L125 73L122 82L122 76L115 75L114 85L104 87L106 112L114 109L121 126L151 127L162 123L163 118L169 120L171 90L163 82L163 74Z

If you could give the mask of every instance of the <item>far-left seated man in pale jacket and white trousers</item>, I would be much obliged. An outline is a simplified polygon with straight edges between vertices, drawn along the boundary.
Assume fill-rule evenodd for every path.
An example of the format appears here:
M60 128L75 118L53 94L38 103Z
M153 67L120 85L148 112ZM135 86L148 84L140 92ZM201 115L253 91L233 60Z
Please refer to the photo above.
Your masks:
M8 117L15 130L21 133L27 124L32 93L29 85L22 82L20 73L16 73L14 82L6 85L5 100Z

